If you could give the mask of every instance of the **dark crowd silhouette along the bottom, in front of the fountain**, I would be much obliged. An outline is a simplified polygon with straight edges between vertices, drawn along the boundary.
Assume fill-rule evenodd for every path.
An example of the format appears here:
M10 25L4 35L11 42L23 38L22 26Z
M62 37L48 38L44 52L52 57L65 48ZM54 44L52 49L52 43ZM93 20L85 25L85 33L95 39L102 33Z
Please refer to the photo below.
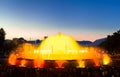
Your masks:
M0 64L0 77L120 77L120 62L112 66L33 68Z

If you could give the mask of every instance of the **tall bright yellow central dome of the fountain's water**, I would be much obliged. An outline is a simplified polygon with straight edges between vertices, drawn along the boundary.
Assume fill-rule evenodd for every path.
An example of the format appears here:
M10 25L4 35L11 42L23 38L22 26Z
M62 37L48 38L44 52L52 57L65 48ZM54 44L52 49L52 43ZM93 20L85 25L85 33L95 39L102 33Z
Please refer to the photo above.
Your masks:
M77 59L80 46L72 37L60 33L44 39L38 50L45 60L72 60Z

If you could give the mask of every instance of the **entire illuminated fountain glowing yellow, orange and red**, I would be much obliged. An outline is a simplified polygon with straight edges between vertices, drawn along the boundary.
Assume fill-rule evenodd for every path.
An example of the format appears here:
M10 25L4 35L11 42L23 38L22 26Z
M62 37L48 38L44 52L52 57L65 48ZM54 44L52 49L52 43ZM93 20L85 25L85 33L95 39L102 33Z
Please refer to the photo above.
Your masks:
M21 45L11 53L8 62L20 67L32 65L35 68L64 68L71 64L85 68L87 65L107 65L110 57L99 48L81 46L71 36L59 33L48 36L39 46L28 43Z

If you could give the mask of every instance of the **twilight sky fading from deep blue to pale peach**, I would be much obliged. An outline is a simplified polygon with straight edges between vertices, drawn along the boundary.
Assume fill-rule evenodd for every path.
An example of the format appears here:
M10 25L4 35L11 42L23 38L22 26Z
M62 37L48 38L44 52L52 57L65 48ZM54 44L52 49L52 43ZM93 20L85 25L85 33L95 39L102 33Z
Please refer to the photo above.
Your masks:
M94 41L120 29L120 0L0 0L1 27L6 39L62 32Z

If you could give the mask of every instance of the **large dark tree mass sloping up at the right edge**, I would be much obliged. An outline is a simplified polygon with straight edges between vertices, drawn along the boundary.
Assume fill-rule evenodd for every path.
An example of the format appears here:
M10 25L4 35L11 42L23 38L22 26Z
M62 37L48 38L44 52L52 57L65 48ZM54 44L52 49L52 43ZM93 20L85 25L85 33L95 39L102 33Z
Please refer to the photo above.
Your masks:
M120 53L120 30L108 35L107 39L100 44L109 53Z

